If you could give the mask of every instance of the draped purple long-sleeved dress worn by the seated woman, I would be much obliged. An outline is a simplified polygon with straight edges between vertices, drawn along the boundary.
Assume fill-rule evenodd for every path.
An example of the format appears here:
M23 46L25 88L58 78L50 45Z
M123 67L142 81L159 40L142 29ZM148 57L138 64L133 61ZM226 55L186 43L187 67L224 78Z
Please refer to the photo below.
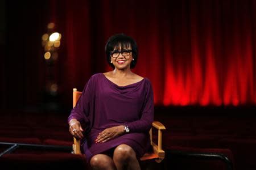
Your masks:
M154 100L147 78L127 86L117 86L102 73L94 74L86 83L82 95L72 109L68 122L76 118L84 129L81 147L89 160L121 144L129 145L137 158L150 148L148 131L154 120ZM130 132L95 143L98 133L113 126L126 124Z

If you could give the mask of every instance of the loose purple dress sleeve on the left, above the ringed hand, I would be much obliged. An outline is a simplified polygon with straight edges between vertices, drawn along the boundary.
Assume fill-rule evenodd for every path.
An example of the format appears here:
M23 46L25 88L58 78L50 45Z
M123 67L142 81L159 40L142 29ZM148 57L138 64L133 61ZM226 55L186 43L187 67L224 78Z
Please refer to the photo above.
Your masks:
M68 122L72 118L76 118L81 124L89 123L90 103L93 97L93 83L92 78L85 84L82 95L76 103L76 106L72 109L68 117Z

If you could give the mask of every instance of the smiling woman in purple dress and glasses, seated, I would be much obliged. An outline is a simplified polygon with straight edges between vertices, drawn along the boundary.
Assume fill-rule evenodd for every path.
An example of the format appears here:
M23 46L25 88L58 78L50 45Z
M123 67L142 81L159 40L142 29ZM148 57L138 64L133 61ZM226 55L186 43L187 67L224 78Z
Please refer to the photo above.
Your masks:
M113 71L94 74L68 118L69 131L82 139L93 169L140 169L138 159L150 148L154 120L150 80L131 71L138 48L129 36L110 37L106 58Z

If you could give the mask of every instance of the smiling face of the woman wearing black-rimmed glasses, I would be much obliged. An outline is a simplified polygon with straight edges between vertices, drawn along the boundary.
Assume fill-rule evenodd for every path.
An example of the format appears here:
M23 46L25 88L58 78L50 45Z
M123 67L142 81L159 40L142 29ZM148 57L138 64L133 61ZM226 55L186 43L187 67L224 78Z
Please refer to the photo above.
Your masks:
M133 61L133 54L131 52L131 45L129 46L115 46L114 50L110 52L111 62L115 69L126 70L130 69L131 62Z

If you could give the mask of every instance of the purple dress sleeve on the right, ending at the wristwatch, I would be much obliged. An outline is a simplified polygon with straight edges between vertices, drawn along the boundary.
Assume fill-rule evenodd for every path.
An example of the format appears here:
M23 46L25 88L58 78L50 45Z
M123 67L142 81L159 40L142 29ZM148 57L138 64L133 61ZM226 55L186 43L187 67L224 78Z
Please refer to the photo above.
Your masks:
M154 95L150 81L146 83L146 95L144 97L141 118L137 121L128 122L126 125L131 132L148 132L154 121Z

